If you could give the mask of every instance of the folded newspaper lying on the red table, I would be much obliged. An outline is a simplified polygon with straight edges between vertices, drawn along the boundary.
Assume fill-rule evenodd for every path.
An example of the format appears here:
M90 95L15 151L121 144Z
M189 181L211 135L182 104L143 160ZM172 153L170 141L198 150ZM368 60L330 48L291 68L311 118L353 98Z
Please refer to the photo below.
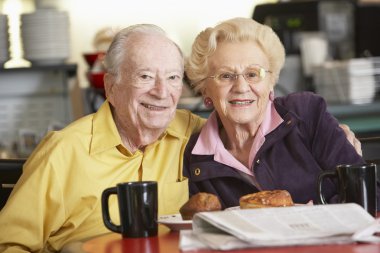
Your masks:
M301 205L197 213L180 249L231 250L290 245L380 242L375 220L357 204Z

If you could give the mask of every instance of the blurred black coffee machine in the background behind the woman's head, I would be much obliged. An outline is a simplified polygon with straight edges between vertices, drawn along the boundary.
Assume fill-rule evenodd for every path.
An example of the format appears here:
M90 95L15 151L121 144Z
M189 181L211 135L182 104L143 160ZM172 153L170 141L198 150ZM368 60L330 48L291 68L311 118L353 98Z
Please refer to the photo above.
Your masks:
M334 59L352 58L355 6L351 1L290 1L257 5L253 19L278 34L287 54L298 54L304 33L323 33Z

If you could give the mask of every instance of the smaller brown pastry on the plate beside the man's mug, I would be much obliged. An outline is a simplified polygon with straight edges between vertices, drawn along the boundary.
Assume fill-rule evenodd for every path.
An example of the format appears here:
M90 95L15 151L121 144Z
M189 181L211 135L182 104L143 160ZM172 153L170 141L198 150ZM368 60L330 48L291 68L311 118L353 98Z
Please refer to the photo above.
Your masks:
M218 211L222 209L219 198L211 193L199 192L180 208L183 220L191 220L197 212Z

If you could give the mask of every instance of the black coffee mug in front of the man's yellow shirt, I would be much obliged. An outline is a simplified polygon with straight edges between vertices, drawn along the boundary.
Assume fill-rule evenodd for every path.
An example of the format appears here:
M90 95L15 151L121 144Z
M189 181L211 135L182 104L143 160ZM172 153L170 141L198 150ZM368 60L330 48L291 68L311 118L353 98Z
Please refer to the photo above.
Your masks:
M119 204L120 225L110 218L109 197L116 195ZM102 193L104 225L123 237L157 235L157 182L141 181L117 184Z

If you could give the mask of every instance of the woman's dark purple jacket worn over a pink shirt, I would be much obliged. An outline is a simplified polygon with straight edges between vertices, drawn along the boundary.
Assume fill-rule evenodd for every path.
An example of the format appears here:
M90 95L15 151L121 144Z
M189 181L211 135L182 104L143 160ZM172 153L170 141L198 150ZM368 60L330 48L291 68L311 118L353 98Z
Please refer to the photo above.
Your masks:
M274 104L284 122L265 136L254 159L254 175L262 190L288 190L295 203L318 203L316 185L321 171L364 160L348 142L338 121L327 112L322 97L300 92L278 97ZM241 172L215 162L212 155L192 155L198 136L191 137L184 156L183 174L189 178L190 195L213 193L227 208L238 206L242 195L258 191ZM324 180L328 202L337 201L335 183Z

